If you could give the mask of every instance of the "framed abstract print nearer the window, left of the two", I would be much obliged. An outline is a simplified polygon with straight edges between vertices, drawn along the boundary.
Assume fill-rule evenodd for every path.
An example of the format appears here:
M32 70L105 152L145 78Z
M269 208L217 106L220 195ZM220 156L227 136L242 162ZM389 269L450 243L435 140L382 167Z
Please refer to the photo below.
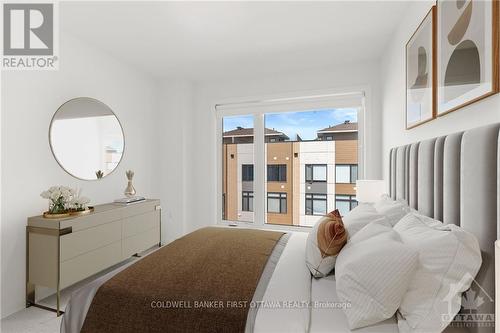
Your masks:
M406 43L406 129L436 118L437 8L432 6Z

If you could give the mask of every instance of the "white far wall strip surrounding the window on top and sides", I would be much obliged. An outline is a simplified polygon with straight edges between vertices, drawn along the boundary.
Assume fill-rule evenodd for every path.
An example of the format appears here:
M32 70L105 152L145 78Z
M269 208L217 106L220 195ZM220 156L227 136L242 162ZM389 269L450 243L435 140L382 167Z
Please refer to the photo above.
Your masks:
M216 117L215 103L252 96L276 96L311 90L369 87L367 128L367 178L381 177L381 112L379 100L379 63L345 64L321 71L310 71L240 81L205 82L195 89L192 116L193 152L189 168L189 206L186 231L216 223Z

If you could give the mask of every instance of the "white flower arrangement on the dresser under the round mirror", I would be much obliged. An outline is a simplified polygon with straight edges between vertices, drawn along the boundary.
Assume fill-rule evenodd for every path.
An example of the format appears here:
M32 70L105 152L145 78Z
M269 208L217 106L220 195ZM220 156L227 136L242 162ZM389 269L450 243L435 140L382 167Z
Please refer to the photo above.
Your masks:
M52 186L40 196L49 200L49 214L65 214L69 211L84 211L89 198L82 197L81 191L67 186Z

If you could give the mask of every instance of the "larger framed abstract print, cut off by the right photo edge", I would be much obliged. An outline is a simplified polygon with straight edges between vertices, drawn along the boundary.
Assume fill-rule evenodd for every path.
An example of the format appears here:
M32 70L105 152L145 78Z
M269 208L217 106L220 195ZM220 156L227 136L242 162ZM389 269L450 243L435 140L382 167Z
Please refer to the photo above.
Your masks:
M499 92L498 0L437 1L437 116Z

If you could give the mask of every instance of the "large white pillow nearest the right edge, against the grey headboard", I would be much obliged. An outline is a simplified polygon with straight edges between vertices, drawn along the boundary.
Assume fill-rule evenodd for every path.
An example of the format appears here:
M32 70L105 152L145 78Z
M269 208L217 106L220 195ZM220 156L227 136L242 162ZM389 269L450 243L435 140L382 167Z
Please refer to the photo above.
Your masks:
M441 332L460 310L461 296L481 267L476 238L454 224L410 213L394 226L419 253L419 265L399 307L400 332Z

